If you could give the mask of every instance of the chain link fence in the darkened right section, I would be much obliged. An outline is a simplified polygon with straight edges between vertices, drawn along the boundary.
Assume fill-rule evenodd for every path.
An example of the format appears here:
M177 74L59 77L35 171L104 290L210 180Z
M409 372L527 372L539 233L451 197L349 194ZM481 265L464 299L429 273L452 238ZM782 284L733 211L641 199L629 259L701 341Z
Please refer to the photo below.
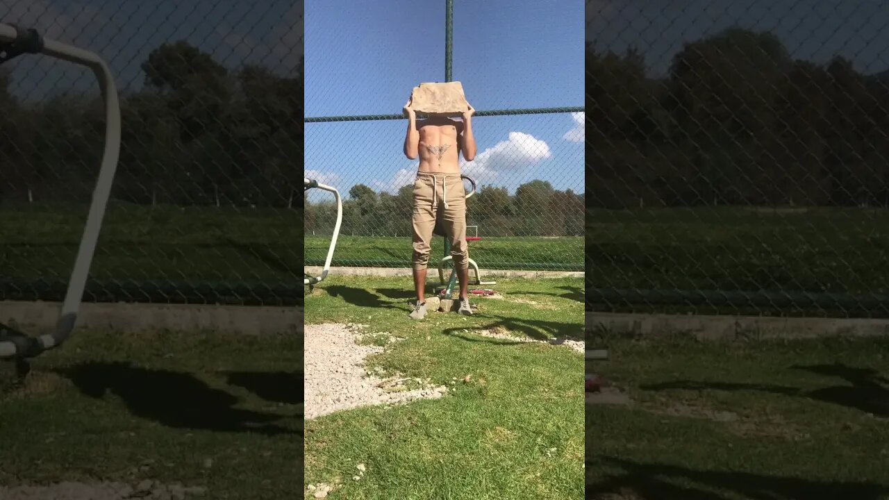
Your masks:
M592 310L889 316L889 14L588 2Z

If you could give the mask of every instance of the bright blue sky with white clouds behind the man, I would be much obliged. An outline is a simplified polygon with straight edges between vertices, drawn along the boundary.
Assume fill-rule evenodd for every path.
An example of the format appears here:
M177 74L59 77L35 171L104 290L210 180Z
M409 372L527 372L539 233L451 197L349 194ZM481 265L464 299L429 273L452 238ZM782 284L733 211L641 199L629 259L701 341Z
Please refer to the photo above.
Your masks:
M400 113L413 86L445 81L445 0L306 4L306 114ZM583 106L581 0L454 1L453 79L477 110ZM464 172L514 191L533 179L583 191L582 119L477 117ZM394 192L417 162L406 120L306 125L308 175Z

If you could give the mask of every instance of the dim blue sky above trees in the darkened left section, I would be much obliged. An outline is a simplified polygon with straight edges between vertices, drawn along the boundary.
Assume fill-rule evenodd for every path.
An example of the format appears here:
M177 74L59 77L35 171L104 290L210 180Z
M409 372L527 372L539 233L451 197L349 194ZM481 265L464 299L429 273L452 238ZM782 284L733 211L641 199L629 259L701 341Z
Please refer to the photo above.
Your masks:
M120 89L138 90L140 64L164 42L186 40L235 69L258 63L290 76L303 52L302 0L0 0L0 20L37 28L47 38L96 52ZM48 93L98 93L86 69L44 56L21 55L13 91L28 101Z

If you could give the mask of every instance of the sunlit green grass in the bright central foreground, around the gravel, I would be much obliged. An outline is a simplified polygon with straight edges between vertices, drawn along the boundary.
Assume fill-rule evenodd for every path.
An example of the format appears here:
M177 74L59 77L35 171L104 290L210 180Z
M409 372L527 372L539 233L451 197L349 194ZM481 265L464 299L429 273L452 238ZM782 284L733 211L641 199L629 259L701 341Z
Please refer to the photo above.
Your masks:
M350 499L582 498L580 353L474 335L580 338L581 286L581 279L504 280L493 286L504 298L477 298L474 317L432 312L415 322L407 318L410 278L323 282L306 297L307 324L358 322L402 336L369 366L460 382L443 399L308 422L306 483L341 478L332 497ZM353 481L359 463L367 472Z

